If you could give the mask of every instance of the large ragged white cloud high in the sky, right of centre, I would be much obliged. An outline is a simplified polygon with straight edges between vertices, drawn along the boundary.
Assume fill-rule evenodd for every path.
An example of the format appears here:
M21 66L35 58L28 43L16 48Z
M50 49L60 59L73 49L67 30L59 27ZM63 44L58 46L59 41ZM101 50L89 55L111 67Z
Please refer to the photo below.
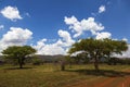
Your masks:
M64 22L69 25L72 30L76 32L76 34L73 36L74 38L80 36L86 30L89 30L95 35L96 32L104 29L104 26L101 23L96 23L94 17L83 18L79 22L75 16L65 16Z

